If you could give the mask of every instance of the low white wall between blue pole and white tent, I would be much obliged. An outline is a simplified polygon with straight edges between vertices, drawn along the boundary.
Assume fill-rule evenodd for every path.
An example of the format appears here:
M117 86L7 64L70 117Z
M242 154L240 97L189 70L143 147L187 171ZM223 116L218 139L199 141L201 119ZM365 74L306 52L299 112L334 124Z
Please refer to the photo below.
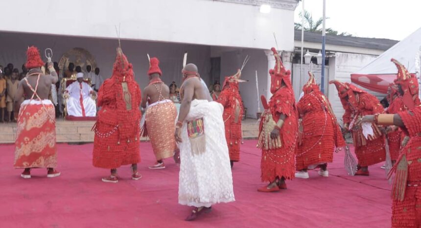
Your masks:
M341 82L351 82L351 73L366 66L377 56L364 54L351 54L336 52L334 57L329 58L329 81L339 80ZM366 89L363 89L366 90ZM342 124L342 115L345 113L338 91L334 85L329 85L329 101L332 104L333 112Z

